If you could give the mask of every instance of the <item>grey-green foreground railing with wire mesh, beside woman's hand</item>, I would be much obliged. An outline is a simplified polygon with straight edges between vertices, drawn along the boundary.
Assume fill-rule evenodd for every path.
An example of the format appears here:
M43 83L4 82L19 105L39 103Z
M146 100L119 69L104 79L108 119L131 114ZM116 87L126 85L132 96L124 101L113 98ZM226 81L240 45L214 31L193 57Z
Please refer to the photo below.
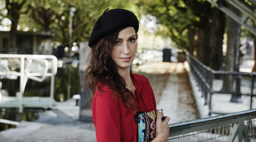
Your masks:
M170 124L168 142L256 141L256 109Z

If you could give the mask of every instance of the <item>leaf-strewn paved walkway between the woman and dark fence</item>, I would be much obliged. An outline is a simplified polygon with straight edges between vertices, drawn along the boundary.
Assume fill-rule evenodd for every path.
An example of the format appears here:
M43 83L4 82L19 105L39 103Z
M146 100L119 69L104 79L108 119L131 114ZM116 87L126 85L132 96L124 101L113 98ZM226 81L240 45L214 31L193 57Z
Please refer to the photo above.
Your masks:
M149 79L157 109L163 109L164 115L170 117L169 124L200 118L184 63L151 63L141 65L135 71ZM157 88L162 86L155 84L159 80L151 77L153 75L161 78L161 85L164 86L160 96L157 95Z

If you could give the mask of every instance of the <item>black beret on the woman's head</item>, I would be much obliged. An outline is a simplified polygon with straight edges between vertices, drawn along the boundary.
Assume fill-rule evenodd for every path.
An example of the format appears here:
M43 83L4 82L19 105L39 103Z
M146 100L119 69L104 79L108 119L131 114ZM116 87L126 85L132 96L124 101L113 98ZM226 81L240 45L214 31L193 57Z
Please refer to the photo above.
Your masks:
M96 44L102 37L125 27L134 27L139 30L137 17L125 9L112 9L105 11L96 21L89 39L89 47Z

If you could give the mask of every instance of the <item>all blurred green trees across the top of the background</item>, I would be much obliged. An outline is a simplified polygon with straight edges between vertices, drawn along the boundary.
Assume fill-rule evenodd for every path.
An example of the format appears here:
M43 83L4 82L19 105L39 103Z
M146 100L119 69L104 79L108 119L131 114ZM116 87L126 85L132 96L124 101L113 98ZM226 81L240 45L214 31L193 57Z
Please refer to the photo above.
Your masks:
M12 47L16 44L14 41L17 30L51 32L55 34L54 41L68 46L71 7L76 8L72 42L79 44L88 41L96 20L107 8L124 8L137 16L140 21L139 31L149 36L148 39L151 39L152 35L163 39L165 43L162 48L177 47L187 50L206 66L215 70L223 69L222 45L227 43L226 33L229 24L227 24L227 16L206 0L0 0L0 2L0 20L6 17L12 21ZM248 30L243 27L241 29L243 37L252 36ZM145 47L143 45L147 44L146 39L145 42L140 42L143 48Z

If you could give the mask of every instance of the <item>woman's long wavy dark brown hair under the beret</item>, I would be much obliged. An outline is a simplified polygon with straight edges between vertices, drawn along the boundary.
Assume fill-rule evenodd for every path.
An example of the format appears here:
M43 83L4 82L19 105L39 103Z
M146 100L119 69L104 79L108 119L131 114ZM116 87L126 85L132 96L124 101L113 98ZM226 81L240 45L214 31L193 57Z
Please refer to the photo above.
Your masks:
M112 95L116 101L119 96L121 97L127 108L127 114L130 108L133 110L133 114L137 111L133 97L126 92L125 80L119 75L116 64L112 59L112 45L117 39L119 31L123 29L103 37L99 42L92 45L92 51L87 57L87 68L83 79L84 90L88 86L91 90L91 95L84 109L92 105L96 89L102 92L102 87L108 86L112 90Z

